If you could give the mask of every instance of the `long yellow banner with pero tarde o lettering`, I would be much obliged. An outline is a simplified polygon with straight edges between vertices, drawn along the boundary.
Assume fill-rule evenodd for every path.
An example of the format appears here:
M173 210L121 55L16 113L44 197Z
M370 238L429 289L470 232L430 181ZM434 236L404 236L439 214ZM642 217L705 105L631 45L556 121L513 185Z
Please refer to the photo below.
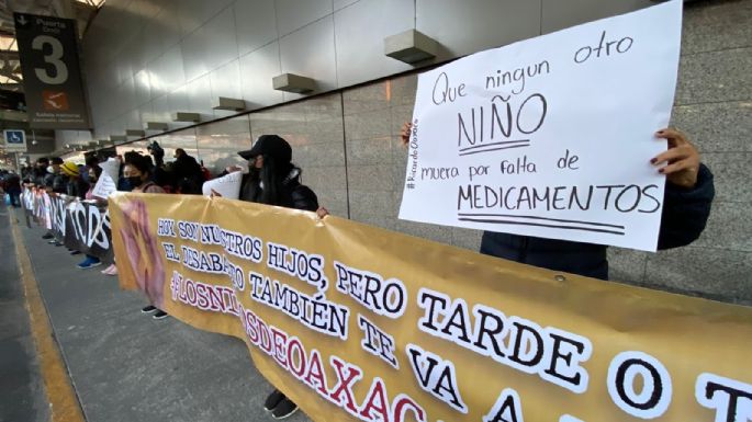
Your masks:
M124 288L242 338L314 421L752 420L752 309L350 220L116 194Z

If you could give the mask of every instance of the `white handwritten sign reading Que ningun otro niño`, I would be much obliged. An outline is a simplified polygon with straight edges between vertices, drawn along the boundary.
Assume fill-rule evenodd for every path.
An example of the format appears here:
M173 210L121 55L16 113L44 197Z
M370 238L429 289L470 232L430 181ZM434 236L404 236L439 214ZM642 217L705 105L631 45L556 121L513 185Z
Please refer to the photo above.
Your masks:
M418 78L400 218L654 251L682 2Z

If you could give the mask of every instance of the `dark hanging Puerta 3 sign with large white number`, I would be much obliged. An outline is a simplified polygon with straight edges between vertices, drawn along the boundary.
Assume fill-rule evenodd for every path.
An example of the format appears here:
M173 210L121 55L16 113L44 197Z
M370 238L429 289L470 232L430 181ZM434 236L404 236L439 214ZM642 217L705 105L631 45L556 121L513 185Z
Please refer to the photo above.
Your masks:
M33 128L88 129L76 21L13 13Z

